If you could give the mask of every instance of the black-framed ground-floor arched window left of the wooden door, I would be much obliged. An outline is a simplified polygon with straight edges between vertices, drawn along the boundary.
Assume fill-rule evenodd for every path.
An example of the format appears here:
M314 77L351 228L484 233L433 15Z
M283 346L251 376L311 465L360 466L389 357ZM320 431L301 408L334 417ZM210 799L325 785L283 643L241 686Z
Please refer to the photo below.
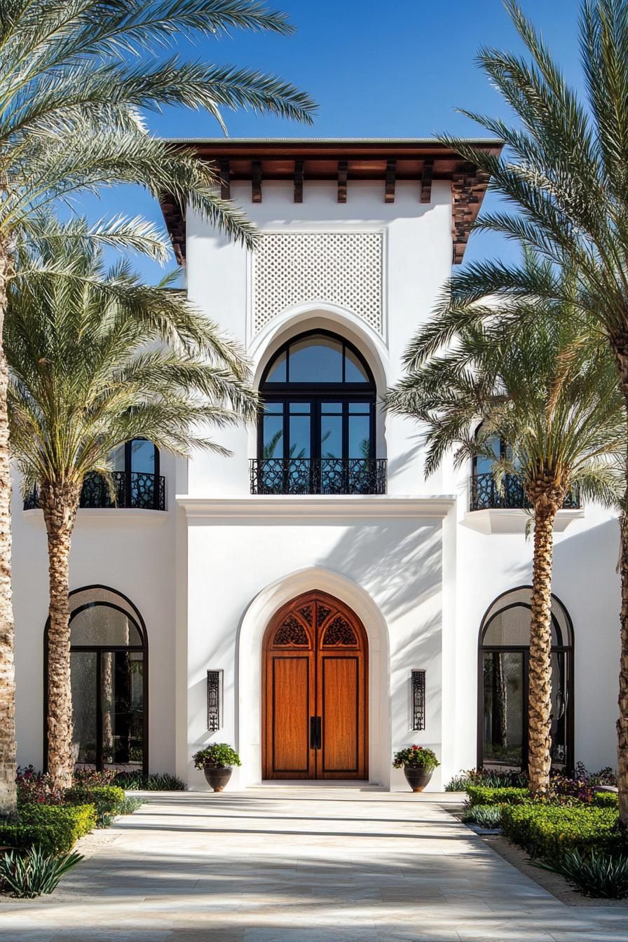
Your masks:
M133 603L106 586L70 593L72 752L78 767L148 771L148 641ZM48 703L48 623L44 710ZM48 718L44 716L47 753ZM44 755L44 765L47 755Z

